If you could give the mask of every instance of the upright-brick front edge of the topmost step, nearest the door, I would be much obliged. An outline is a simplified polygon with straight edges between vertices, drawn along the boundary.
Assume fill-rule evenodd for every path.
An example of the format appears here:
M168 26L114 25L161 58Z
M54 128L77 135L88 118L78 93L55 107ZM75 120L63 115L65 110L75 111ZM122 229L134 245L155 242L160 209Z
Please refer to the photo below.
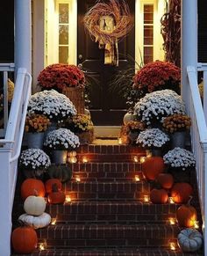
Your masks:
M83 145L76 152L78 154L146 154L146 150L132 145Z

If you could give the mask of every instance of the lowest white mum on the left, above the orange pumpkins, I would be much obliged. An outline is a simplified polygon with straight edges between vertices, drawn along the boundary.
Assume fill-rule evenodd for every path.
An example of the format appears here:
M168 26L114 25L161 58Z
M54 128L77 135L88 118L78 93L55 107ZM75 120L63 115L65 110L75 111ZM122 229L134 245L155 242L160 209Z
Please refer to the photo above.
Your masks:
M51 165L51 161L43 150L29 149L22 151L19 165L25 170L44 170Z

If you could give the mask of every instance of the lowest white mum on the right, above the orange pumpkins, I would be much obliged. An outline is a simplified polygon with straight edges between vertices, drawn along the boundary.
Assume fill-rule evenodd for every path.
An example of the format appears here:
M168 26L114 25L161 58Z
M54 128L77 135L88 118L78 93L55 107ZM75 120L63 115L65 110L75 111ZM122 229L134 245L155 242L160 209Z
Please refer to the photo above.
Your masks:
M183 171L196 164L196 159L193 153L181 148L169 150L163 159L166 165L170 165L171 167L181 167Z

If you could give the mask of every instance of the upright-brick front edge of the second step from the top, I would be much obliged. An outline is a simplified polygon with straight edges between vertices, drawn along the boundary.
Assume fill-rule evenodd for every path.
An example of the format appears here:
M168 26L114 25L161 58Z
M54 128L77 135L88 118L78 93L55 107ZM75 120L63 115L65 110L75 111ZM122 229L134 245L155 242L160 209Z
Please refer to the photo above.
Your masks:
M138 172L141 170L139 163L76 163L71 165L72 172Z

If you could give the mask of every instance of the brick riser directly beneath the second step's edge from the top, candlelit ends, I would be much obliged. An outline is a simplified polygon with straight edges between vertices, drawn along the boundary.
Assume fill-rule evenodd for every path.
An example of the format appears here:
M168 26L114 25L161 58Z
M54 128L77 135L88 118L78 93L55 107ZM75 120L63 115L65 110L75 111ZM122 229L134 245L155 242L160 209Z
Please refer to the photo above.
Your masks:
M73 172L73 179L79 177L82 181L90 179L134 179L135 175L139 175L139 179L144 179L142 172L134 170L133 172ZM73 180L72 179L72 180Z

